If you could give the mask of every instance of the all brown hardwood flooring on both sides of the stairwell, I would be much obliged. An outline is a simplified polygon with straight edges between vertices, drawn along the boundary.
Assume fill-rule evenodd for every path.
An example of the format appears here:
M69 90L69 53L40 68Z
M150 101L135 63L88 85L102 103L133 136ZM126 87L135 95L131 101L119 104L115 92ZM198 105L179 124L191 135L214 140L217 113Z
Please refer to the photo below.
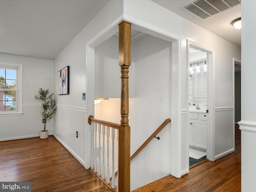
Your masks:
M235 152L190 169L182 178L166 176L133 192L240 192L241 137ZM32 192L111 192L53 136L0 142L0 181L32 182Z

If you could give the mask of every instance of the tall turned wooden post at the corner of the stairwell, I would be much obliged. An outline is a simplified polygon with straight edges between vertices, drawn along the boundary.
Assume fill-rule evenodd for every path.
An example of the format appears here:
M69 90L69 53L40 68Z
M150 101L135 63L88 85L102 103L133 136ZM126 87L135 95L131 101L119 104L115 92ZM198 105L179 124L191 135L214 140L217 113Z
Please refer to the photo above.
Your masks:
M121 124L118 150L118 191L130 192L129 66L131 65L131 23L119 24L119 65L121 66Z

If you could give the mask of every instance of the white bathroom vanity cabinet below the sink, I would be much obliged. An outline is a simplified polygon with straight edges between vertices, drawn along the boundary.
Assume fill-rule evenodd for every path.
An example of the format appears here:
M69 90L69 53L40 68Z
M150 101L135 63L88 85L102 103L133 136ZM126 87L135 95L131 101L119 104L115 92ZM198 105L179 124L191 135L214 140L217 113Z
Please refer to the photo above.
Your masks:
M206 149L207 145L206 113L189 113L189 145Z

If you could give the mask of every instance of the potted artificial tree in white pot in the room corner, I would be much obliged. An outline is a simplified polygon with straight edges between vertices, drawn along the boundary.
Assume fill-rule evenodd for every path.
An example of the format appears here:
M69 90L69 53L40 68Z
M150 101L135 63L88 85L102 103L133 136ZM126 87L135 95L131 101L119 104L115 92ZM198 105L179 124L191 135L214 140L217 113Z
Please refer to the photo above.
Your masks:
M56 100L54 99L54 94L49 93L49 90L43 90L42 88L39 88L38 96L35 95L34 98L36 100L39 100L42 102L42 118L44 122L44 130L40 131L40 139L46 139L48 138L48 130L46 129L46 123L54 117L54 114L56 113L57 106L56 106Z

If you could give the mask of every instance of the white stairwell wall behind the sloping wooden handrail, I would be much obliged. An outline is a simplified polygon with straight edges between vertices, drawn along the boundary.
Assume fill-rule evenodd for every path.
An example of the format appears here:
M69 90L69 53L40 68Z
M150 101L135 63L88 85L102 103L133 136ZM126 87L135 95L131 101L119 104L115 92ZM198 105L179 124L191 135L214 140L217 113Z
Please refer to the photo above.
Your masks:
M135 99L130 99L131 154L170 118L172 43L146 35L134 45ZM131 190L171 172L168 124L131 162ZM146 175L146 177L145 177Z

